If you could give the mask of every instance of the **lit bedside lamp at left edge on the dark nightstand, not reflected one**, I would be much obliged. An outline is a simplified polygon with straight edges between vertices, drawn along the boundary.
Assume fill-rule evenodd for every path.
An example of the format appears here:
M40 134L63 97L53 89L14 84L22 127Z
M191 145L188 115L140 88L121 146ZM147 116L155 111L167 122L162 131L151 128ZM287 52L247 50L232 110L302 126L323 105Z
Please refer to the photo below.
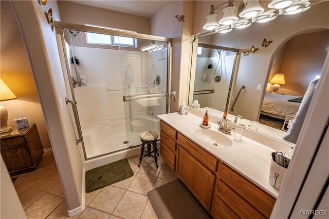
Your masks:
M0 78L0 101L9 101L10 99L16 99L17 96L9 89L5 82ZM0 106L0 123L1 130L0 134L8 133L12 130L10 126L7 125L8 122L8 110L4 106Z

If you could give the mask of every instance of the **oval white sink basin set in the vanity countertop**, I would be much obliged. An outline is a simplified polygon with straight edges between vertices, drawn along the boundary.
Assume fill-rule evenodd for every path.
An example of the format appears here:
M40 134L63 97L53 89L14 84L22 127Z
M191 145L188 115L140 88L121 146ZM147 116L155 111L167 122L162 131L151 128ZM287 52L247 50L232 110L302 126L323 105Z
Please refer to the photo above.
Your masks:
M211 129L196 129L194 133L200 140L210 143L211 145L220 147L229 147L232 145L232 141L218 131Z

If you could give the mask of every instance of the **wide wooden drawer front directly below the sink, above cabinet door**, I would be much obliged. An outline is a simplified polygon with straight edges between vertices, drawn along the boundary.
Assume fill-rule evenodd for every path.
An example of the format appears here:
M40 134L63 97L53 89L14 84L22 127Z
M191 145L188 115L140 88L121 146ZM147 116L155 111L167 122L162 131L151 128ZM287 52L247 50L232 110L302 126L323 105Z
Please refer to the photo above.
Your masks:
M191 142L187 137L178 132L177 142L181 148L190 153L198 162L205 165L209 170L216 172L217 158L200 148L200 146Z

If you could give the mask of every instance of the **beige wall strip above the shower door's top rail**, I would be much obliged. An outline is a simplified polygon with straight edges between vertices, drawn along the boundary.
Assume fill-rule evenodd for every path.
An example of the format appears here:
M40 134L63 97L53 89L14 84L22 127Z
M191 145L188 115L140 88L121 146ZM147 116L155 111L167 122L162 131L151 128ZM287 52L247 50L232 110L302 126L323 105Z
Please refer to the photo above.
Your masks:
M62 22L97 25L150 34L150 18L58 1Z

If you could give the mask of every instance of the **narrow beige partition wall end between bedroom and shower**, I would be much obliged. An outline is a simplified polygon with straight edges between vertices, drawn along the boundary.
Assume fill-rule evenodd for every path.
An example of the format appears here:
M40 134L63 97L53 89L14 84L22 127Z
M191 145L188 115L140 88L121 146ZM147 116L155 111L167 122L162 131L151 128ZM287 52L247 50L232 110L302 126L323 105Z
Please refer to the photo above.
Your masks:
M67 93L56 35L44 14L52 8L53 19L60 21L58 5L56 1L48 1L46 6L38 1L10 3L20 24L68 211L79 212L84 209L83 166L65 104Z

